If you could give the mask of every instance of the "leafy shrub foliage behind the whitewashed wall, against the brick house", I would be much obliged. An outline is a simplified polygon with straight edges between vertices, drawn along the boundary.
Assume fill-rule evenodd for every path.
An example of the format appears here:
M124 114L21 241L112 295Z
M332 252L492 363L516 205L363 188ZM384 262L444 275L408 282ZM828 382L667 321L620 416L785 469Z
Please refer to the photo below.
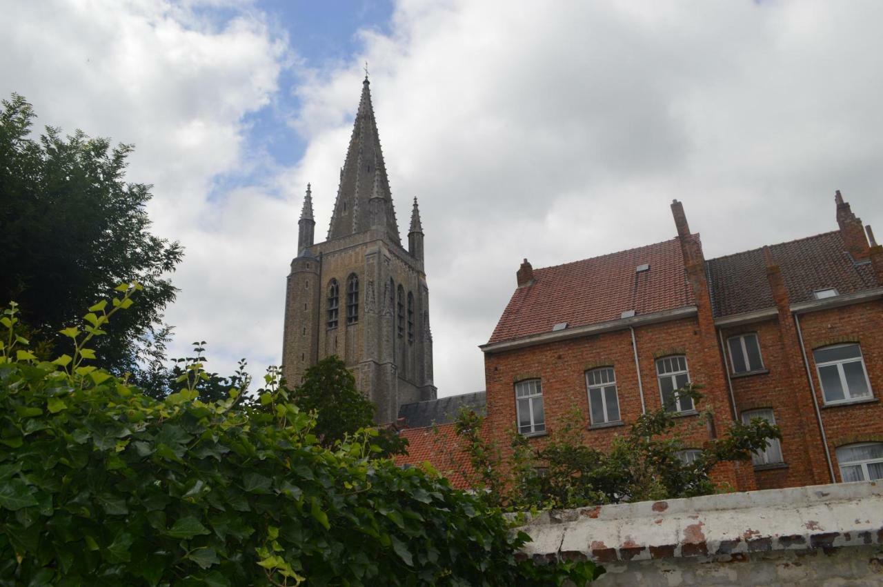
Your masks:
M694 403L702 397L694 384L678 395L690 396ZM688 445L670 410L642 414L603 451L585 441L585 421L575 410L540 448L511 431L509 456L504 456L482 433L483 419L465 410L457 418L457 435L470 461L461 472L473 487L486 490L479 494L488 503L508 509L579 508L714 493L714 465L750 460L752 451L781 438L779 428L764 419L736 422L721 437L706 441L688 463L683 458Z

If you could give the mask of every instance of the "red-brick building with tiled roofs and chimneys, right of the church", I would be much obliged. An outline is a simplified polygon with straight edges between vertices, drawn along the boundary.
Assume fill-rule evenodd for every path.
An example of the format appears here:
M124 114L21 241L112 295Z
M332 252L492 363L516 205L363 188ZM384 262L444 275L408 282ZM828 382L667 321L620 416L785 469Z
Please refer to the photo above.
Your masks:
M718 259L675 200L671 240L556 267L525 260L481 347L486 433L505 448L517 426L539 446L576 408L585 441L603 448L665 402L696 448L739 419L780 426L752 463L714 471L737 489L883 478L883 247L835 201L838 230ZM708 425L675 394L688 380L705 386ZM440 410L442 433L454 411ZM428 437L409 436L425 453Z

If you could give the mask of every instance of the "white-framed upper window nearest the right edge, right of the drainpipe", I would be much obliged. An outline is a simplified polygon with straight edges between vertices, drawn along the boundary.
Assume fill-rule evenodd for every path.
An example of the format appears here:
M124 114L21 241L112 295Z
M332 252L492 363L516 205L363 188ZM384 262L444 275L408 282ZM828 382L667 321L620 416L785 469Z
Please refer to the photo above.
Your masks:
M857 344L836 344L812 351L825 403L871 397L871 382Z

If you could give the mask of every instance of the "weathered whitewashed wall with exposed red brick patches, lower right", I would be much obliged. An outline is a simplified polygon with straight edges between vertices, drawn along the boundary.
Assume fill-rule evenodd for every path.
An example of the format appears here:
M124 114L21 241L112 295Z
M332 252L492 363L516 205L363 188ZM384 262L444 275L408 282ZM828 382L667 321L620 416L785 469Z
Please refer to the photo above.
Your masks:
M518 530L540 564L602 564L599 587L883 584L878 482L544 512Z

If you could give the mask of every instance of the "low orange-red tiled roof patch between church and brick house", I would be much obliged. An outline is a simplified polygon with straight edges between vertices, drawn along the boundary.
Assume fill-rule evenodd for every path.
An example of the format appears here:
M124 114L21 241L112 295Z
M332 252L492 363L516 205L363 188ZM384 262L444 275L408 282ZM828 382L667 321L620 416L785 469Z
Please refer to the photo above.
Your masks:
M454 424L428 428L406 428L399 432L408 439L407 455L396 455L396 464L419 466L429 461L456 489L469 489L464 475L472 473L469 457L454 430Z

